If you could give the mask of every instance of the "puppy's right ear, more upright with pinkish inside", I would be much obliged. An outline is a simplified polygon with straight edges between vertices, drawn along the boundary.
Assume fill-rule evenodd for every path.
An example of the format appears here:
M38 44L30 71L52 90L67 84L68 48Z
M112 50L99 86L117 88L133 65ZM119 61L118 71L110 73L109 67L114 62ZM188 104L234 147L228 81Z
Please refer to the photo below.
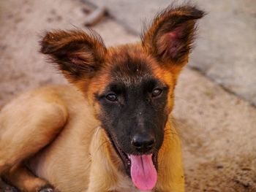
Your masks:
M141 37L143 47L162 63L184 66L195 37L195 22L203 15L195 7L168 7Z

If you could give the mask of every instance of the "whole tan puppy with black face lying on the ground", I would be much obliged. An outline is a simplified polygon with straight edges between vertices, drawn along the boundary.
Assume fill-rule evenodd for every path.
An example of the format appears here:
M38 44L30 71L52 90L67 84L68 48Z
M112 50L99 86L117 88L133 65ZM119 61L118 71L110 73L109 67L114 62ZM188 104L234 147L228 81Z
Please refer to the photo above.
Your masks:
M105 47L94 31L40 42L70 85L29 91L0 113L0 174L20 191L184 191L171 112L188 62L195 6L167 7L135 44Z

